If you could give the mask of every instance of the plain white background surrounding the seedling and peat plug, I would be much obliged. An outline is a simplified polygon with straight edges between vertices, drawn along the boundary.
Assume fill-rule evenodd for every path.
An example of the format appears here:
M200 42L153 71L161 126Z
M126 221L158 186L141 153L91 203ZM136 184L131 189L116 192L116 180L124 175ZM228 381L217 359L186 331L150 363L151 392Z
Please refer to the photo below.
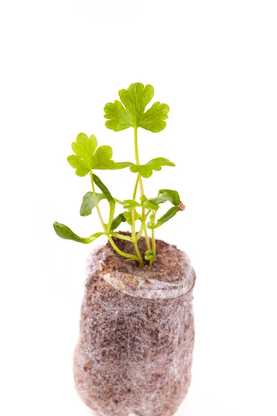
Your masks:
M92 415L71 374L92 245L52 223L100 229L78 214L89 179L66 157L87 132L134 160L131 129L107 130L102 111L134 82L170 105L166 130L141 129L139 146L141 162L177 167L145 192L181 194L186 211L157 236L197 272L193 383L177 415L277 415L276 19L268 0L1 1L1 415ZM101 177L132 196L129 171Z

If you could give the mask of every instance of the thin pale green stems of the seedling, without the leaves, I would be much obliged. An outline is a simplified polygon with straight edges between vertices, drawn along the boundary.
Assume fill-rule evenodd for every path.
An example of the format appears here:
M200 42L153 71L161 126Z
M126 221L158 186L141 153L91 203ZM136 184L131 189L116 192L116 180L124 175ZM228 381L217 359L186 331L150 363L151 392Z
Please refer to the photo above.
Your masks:
M139 165L139 146L138 146L138 129L134 128L134 152L135 152L135 157L136 157L136 164ZM136 232L136 209L132 209L132 236L126 236L125 234L119 234L117 232L111 231L110 227L107 227L107 225L104 223L104 220L102 218L100 209L99 209L99 205L97 202L97 198L96 198L96 189L94 186L94 182L93 182L93 173L92 171L90 171L90 176L91 176L91 186L92 186L92 191L93 191L93 197L94 200L96 202L96 209L98 212L98 216L100 218L100 222L102 224L102 227L104 229L104 234L107 236L107 238L109 239L109 242L111 243L111 246L114 248L114 250L120 254L120 256L123 257L127 257L127 259L134 259L139 263L140 267L144 266L144 262L143 262L143 257L141 257L141 252L139 251L139 246L138 246L138 241L139 239L141 239L141 236L145 236L145 243L146 243L146 247L147 250L152 251L152 258L149 260L149 265L152 266L154 263L154 259L155 259L155 255L156 255L156 243L155 243L155 236L154 236L154 229L152 229L152 247L150 245L150 239L148 236L148 228L146 225L146 220L148 218L148 216L150 215L150 220L152 223L155 222L155 217L156 217L156 212L152 211L151 209L149 209L146 212L146 209L144 207L141 207L141 229L139 230L139 232ZM138 191L138 187L140 188L140 192L141 192L141 196L144 196L144 190L143 190L143 180L141 177L141 174L138 173L137 177L136 177L136 183L134 186L134 193L133 193L133 197L132 199L134 201L136 201L136 195L137 195L137 191ZM120 205L125 205L125 202L120 201L116 198L114 198L114 200L120 204ZM110 208L111 209L111 208ZM111 214L110 213L110 218L112 218L114 212ZM127 240L127 241L131 241L134 244L134 250L136 251L136 255L133 254L128 254L125 253L123 251L121 251L118 246L116 245L116 243L114 242L114 240L111 238L111 236L117 237L118 239L122 239L122 240Z

